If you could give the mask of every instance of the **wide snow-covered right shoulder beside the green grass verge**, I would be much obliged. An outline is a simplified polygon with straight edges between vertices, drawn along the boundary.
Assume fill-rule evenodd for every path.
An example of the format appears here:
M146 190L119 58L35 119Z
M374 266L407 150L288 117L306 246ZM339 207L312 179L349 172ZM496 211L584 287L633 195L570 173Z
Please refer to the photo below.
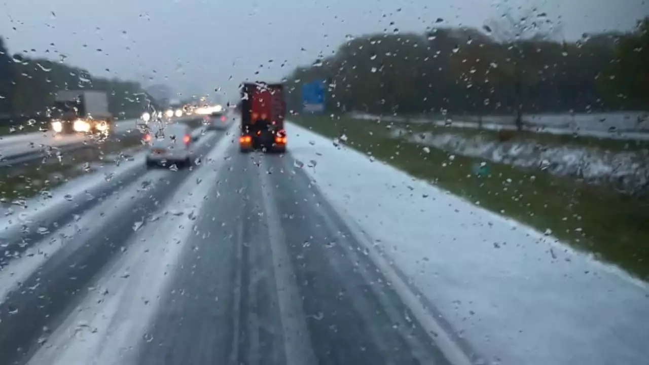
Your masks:
M486 360L604 365L649 357L646 284L328 138L287 129L291 154L334 207Z

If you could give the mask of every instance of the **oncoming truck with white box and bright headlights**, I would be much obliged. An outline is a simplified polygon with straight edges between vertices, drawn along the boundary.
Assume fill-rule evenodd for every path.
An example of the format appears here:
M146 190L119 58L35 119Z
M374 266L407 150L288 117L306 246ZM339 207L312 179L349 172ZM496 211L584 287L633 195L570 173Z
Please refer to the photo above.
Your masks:
M61 90L56 93L51 112L56 133L108 133L113 115L108 111L108 95L96 90Z

